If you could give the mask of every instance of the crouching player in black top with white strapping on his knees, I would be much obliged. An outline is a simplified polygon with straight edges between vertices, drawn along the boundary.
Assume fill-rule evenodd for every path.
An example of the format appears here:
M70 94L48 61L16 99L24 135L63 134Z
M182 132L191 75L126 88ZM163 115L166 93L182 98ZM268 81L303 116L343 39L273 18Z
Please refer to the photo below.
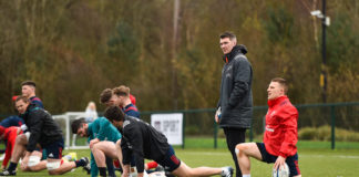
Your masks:
M32 165L40 163L40 158L34 154L37 144L47 150L47 168L50 175L60 175L70 171L79 166L88 166L89 159L86 157L76 162L61 162L61 153L63 149L63 137L60 126L54 122L52 116L43 108L30 104L30 101L24 96L19 96L16 100L16 107L24 119L24 123L30 132L29 140L25 146L25 157L23 163L29 160ZM0 176L16 176L19 156L11 158L7 170L0 173Z

